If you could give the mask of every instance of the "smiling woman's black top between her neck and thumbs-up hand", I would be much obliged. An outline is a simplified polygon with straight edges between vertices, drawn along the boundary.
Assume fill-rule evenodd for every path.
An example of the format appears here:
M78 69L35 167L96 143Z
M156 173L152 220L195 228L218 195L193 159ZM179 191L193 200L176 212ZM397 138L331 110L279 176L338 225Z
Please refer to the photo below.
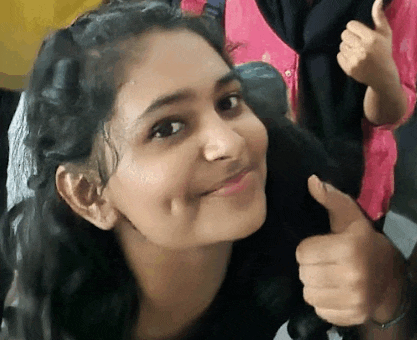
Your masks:
M349 184L344 183L343 169L305 131L284 117L265 123L267 219L258 232L234 244L221 290L187 340L273 339L293 313L300 308L311 311L302 298L295 249L302 239L330 229L326 210L308 193L307 178L317 174L331 180L337 174L335 185ZM327 339L324 334L312 339Z

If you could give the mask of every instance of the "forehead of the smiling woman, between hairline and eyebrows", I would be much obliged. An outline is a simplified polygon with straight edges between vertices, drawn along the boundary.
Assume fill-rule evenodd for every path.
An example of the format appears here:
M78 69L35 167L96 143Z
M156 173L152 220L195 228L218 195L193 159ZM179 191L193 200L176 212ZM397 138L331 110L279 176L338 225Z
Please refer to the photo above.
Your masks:
M140 56L125 66L124 83L144 89L189 87L214 82L229 71L222 56L201 36L187 30L147 34Z

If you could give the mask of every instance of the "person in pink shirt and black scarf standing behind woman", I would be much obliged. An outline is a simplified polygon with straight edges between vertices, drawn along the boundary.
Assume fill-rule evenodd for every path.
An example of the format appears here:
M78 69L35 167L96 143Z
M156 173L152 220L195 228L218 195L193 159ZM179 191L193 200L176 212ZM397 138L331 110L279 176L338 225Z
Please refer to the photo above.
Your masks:
M201 13L205 3L181 7ZM392 130L416 98L417 1L383 10L382 0L229 0L224 25L238 45L234 62L263 60L284 75L294 120L353 164L358 203L372 220L383 217L394 190Z

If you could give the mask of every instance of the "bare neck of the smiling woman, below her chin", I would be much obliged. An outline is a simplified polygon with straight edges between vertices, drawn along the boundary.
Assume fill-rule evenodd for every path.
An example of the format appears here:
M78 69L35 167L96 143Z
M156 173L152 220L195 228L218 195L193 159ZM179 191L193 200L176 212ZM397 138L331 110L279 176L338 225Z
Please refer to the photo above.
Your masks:
M173 250L121 235L139 283L136 339L175 339L207 310L225 278L232 242Z

